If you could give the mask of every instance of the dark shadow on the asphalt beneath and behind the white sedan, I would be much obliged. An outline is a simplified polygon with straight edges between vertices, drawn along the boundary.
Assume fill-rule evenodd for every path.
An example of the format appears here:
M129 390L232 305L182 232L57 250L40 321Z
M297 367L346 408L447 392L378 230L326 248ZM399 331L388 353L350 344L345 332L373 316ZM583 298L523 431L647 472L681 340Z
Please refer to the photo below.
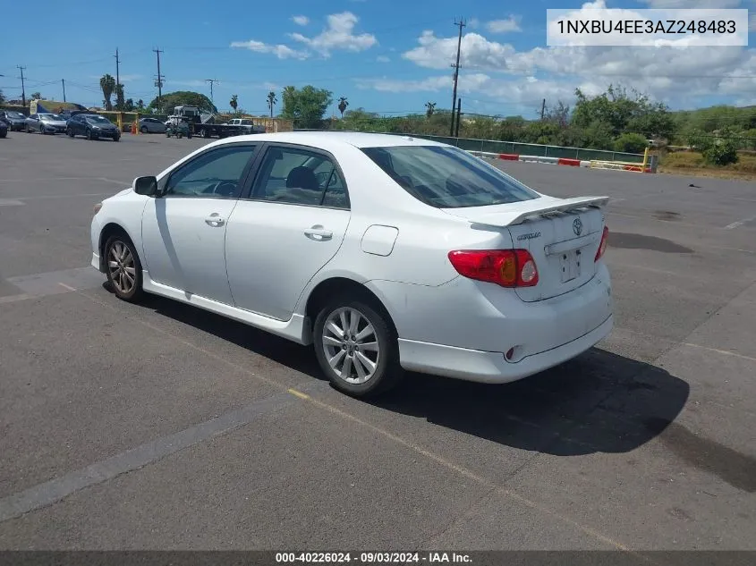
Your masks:
M155 295L141 307L326 380L310 347ZM675 421L689 394L689 384L662 368L593 348L511 384L409 373L395 390L356 402L497 444L573 456L631 452L648 443Z

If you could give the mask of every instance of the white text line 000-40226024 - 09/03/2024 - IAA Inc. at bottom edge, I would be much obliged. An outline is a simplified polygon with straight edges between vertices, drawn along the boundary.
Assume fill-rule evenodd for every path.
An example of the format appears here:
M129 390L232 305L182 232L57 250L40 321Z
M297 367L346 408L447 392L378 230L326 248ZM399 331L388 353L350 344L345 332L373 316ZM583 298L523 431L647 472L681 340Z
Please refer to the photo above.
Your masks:
M471 563L471 557L465 553L276 553L276 563L349 563L358 564L408 564L408 563Z

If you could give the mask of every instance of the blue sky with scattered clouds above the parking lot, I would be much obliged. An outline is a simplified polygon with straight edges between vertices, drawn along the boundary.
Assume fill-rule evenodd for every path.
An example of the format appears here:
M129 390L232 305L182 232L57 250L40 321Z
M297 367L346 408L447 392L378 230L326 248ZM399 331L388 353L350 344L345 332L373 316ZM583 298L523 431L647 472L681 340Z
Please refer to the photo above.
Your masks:
M427 101L449 107L456 49L454 19L463 16L463 111L533 117L573 102L573 90L600 92L610 82L649 92L674 108L756 104L752 47L547 47L547 8L580 8L565 0L329 0L222 2L137 0L89 2L62 11L39 0L4 7L0 89L20 97L16 65L26 67L26 94L40 91L87 106L102 104L99 77L115 76L121 56L125 96L157 95L152 49L159 47L164 92L197 90L229 107L232 94L252 114L267 113L268 90L312 84L344 96L350 108L382 114L422 112ZM70 4L73 6L74 4ZM157 6L159 5L159 8ZM609 8L750 8L756 0L595 0ZM38 14L38 15L37 15ZM756 19L751 15L752 27ZM72 21L84 22L81 26ZM130 28L133 30L130 30ZM754 34L750 39L753 41ZM332 111L335 111L332 108Z

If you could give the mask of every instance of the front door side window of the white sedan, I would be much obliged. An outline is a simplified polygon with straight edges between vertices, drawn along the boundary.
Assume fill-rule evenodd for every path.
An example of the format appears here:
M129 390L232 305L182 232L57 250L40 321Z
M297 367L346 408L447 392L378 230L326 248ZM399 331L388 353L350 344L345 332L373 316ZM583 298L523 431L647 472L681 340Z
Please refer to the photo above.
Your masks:
M179 167L168 178L166 197L235 198L255 146L218 148Z

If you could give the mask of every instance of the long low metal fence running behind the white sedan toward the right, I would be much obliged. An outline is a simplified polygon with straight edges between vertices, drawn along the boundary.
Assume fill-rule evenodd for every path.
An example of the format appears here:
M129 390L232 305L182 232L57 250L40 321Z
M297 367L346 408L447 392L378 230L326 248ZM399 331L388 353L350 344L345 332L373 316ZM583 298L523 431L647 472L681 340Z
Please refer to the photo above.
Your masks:
M643 163L643 154L625 153L623 151L607 151L604 149L565 148L562 146L546 146L535 143L521 143L519 141L500 141L497 139L454 138L448 136L433 136L429 134L396 133L392 131L370 131L368 133L387 133L395 136L412 136L412 138L431 139L441 143L456 146L467 151L488 151L490 153L508 153L521 156L536 157L564 157L580 159L581 161L622 161L625 163Z

